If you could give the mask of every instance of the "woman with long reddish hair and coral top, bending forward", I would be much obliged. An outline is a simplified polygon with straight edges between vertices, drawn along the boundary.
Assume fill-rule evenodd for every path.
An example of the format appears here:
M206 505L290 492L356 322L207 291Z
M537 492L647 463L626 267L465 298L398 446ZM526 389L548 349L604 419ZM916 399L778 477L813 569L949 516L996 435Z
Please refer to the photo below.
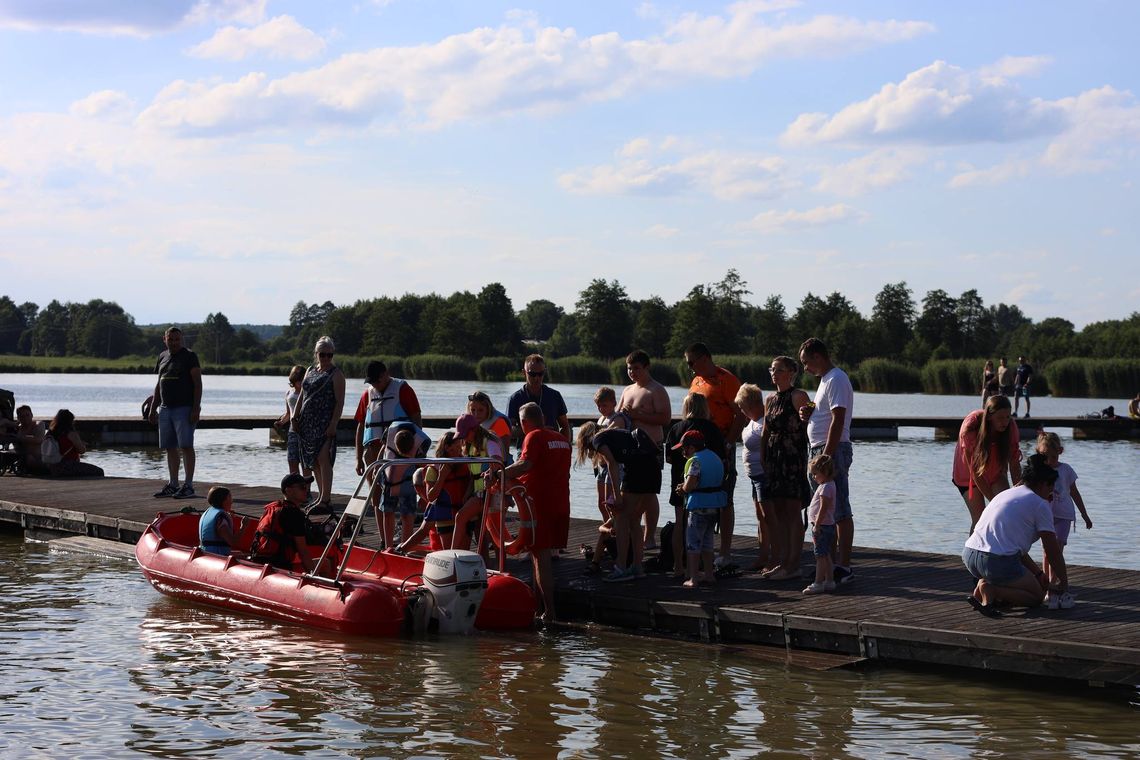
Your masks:
M992 395L962 420L954 446L953 481L974 530L986 502L1021 480L1021 434L1009 399ZM1007 477L1007 474L1009 477Z

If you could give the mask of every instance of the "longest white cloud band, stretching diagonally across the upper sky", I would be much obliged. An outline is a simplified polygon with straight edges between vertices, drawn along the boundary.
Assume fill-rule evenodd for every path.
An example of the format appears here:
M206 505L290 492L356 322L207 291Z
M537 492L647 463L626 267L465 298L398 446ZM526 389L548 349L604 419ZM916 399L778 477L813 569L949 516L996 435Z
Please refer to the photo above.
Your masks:
M142 114L182 132L268 124L413 126L513 113L548 113L678 81L747 76L773 58L840 56L927 34L921 22L817 16L768 24L750 3L725 16L686 14L661 36L580 36L532 19L477 28L432 44L376 48L282 79L174 83Z

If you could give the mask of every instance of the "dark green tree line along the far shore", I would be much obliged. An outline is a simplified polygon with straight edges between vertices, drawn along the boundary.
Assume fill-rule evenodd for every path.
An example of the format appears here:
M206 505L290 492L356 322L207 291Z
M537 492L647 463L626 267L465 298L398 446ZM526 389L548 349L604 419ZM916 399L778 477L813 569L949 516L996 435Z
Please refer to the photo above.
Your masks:
M351 356L443 354L469 361L532 351L611 360L630 348L676 358L694 341L714 354L795 356L813 335L849 366L870 358L921 367L940 359L1007 356L1015 361L1021 354L1043 367L1062 357L1140 356L1140 312L1077 330L1061 317L1035 322L1016 304L986 305L975 289L958 296L934 289L917 301L904 281L883 285L870 314L838 291L808 293L791 313L780 294L768 294L763 303L750 295L744 279L730 269L673 304L656 295L630 299L618 280L597 278L578 294L572 311L548 300L516 311L503 285L490 283L478 293L448 296L408 293L351 305L298 302L288 324L270 338L235 327L221 312L180 327L202 361L213 365L293 363L309 356L320 335L333 336L337 351ZM162 348L162 329L139 327L114 302L52 301L40 309L0 296L0 353L150 356Z

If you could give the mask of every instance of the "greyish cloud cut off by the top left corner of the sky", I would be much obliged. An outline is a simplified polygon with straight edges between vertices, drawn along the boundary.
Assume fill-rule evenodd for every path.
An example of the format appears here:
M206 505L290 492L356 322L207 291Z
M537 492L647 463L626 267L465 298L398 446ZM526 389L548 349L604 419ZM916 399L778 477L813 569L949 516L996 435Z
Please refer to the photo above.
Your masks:
M266 0L5 0L0 27L148 36L206 22L255 24L264 9Z

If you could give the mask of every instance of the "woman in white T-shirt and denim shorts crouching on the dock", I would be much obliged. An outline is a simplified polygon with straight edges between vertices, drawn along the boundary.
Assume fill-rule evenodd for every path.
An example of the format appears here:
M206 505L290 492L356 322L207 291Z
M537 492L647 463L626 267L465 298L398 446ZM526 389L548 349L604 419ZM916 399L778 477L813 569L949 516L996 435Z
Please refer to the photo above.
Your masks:
M1057 471L1035 453L1021 471L1021 483L1002 491L990 502L962 549L962 562L978 579L970 605L994 615L995 605L1008 603L1035 607L1045 598L1045 573L1029 557L1037 541L1056 578L1056 590L1068 591L1068 571L1053 526L1052 496Z

